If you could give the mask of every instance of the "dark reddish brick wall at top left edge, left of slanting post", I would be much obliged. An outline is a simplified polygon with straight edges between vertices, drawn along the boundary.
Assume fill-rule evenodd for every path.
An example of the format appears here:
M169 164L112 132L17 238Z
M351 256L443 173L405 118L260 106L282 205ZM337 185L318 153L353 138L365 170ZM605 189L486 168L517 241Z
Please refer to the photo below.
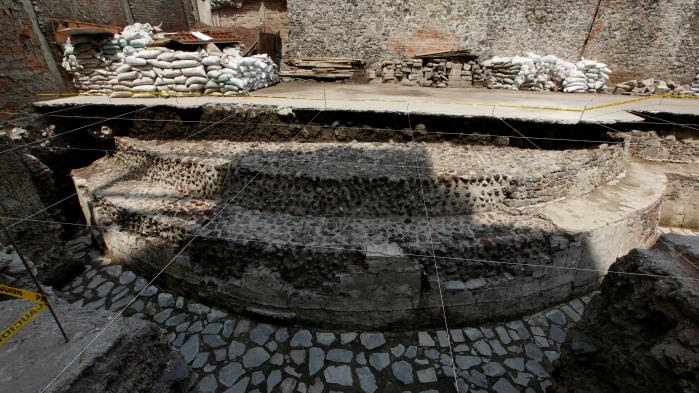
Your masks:
M0 0L0 5L0 108L11 109L55 87L21 1Z

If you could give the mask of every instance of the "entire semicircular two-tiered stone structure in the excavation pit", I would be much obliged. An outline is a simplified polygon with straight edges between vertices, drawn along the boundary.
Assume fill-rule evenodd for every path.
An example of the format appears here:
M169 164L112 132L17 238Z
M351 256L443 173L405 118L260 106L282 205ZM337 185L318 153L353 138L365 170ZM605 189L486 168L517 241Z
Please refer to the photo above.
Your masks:
M411 141L424 125L333 134L242 110L256 132L133 122L115 130L115 154L73 172L112 262L153 275L172 261L170 287L229 310L383 329L440 323L435 266L450 320L472 323L588 293L655 239L665 176L630 160L623 138L424 143Z

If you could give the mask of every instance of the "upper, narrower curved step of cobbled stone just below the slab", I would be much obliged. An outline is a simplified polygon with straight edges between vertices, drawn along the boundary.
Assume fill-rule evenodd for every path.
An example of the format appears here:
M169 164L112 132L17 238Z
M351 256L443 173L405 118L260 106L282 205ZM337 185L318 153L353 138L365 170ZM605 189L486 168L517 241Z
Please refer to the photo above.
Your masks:
M534 151L118 138L117 148L114 165L128 167L131 179L211 199L246 187L236 201L251 209L353 217L422 216L425 204L430 216L534 205L593 190L621 173L624 159L621 145Z

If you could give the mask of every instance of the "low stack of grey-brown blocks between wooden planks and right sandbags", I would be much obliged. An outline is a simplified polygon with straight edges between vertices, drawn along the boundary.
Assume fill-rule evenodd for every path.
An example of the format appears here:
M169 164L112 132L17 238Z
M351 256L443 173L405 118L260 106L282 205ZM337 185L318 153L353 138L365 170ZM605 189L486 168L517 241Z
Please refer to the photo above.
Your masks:
M381 77L384 83L423 87L472 87L483 85L483 73L477 61L465 63L446 59L387 60L379 72L370 72L369 78Z

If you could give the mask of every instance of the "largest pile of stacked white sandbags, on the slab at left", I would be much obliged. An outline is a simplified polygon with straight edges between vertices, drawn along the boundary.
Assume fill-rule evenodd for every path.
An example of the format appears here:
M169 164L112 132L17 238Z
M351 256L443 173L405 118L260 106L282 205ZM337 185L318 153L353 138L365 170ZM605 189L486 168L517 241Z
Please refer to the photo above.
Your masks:
M225 96L247 94L279 81L277 65L267 55L242 57L238 49L220 51L212 44L193 52L147 47L158 38L157 28L133 26L97 41L78 38L79 45L73 44L79 36L71 37L63 66L73 74L78 90L113 98Z

